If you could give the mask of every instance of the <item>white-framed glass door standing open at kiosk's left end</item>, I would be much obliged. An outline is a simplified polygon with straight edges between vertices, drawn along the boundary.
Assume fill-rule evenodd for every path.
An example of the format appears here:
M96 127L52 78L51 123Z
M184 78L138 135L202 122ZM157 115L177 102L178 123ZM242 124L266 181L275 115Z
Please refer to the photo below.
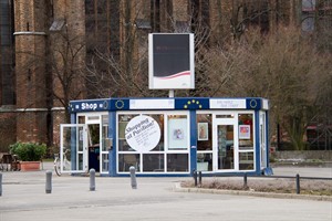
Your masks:
M86 126L82 124L62 124L60 136L61 172L87 172Z

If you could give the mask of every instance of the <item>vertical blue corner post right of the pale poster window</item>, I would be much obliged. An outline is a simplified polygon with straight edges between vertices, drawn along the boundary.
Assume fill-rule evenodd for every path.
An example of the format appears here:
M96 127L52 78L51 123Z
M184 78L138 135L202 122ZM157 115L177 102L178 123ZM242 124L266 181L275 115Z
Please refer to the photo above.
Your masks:
M189 117L190 117L190 151L189 151L189 157L190 157L190 173L194 172L197 168L197 124L196 124L196 112L190 110L189 112Z

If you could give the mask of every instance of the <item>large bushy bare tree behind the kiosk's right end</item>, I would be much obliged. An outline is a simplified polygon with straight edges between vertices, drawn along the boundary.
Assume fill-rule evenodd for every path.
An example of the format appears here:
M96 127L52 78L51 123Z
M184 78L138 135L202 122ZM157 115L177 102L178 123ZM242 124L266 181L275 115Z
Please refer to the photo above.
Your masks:
M279 28L261 35L249 30L241 41L210 50L212 95L261 96L271 101L271 128L282 125L295 149L304 149L303 135L329 76L326 55L295 28ZM219 63L218 63L219 62Z

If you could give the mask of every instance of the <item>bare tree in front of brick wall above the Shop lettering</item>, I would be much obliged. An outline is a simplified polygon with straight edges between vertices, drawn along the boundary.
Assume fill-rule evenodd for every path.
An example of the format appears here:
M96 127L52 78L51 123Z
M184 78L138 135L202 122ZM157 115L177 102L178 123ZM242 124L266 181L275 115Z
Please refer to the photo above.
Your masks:
M46 64L51 67L50 85L54 106L65 108L69 123L69 103L84 97L85 42L80 35L70 33L66 25L61 31L51 32Z

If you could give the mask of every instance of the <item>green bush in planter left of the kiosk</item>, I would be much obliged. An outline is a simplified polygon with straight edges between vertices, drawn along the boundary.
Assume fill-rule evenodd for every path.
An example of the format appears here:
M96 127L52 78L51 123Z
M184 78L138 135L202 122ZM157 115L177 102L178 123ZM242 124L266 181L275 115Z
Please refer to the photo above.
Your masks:
M46 145L34 143L15 143L9 146L10 154L22 161L39 161L46 154Z

